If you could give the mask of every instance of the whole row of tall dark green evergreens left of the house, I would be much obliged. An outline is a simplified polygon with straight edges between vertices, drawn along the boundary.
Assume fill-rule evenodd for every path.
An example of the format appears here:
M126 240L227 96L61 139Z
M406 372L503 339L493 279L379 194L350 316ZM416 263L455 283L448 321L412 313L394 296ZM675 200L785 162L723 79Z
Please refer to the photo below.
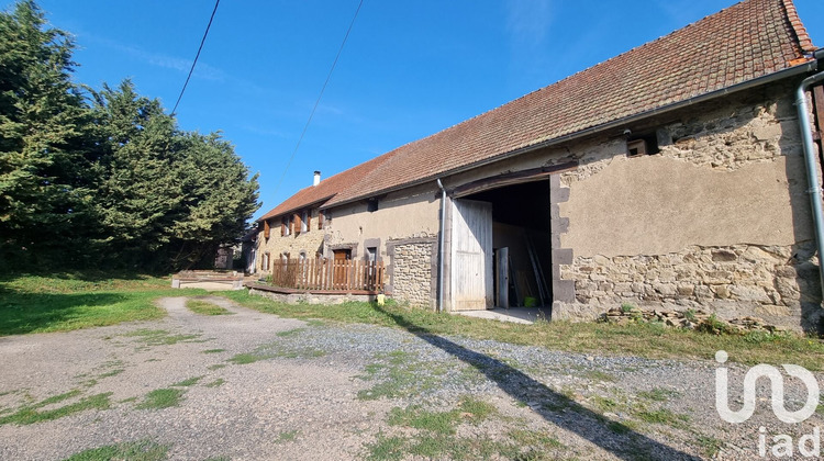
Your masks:
M257 175L130 80L75 83L74 47L34 1L0 13L0 268L208 265L259 207Z

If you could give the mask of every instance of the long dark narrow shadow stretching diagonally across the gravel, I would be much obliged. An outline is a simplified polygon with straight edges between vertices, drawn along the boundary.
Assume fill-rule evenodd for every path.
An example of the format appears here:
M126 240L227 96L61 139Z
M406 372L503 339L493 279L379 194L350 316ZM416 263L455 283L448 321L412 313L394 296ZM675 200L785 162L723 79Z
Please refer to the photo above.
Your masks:
M506 394L528 405L548 423L577 434L617 458L624 460L700 460L698 457L636 432L619 421L606 419L498 359L434 335L426 328L392 314L377 304L372 306L409 333L476 368L489 380L495 382Z

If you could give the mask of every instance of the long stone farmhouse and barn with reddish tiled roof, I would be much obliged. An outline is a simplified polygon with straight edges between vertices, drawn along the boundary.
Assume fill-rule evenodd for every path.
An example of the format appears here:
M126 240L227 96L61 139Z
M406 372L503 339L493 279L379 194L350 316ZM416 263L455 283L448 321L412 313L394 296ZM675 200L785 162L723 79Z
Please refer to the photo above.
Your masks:
M443 311L591 319L631 303L815 329L823 58L790 0L745 0L315 172L259 218L255 270L382 261L379 290Z

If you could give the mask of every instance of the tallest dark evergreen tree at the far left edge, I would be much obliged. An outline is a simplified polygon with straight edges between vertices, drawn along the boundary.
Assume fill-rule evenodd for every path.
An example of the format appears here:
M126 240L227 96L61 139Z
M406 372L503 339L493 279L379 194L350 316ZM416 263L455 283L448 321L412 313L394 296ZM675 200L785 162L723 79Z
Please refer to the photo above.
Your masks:
M90 111L71 82L68 35L33 1L0 13L0 250L65 262L93 222Z

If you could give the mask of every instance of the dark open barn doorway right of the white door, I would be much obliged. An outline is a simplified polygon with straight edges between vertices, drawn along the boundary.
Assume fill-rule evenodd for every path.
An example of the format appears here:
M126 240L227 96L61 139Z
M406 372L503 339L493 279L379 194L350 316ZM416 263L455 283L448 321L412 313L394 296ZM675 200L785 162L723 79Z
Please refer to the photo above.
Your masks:
M492 286L486 308L552 306L549 191L549 181L539 180L456 200L491 210L491 251L485 254L482 273Z

